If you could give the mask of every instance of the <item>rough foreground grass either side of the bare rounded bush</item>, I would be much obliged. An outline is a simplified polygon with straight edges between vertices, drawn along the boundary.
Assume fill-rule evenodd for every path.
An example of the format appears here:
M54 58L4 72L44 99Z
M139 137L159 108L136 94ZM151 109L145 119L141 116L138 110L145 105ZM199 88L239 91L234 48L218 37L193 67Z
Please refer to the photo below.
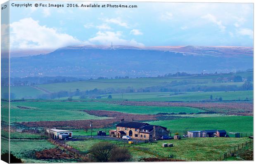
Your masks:
M120 141L88 139L84 141L69 141L68 144L81 152L88 152L90 147L101 141L111 143L122 143ZM192 159L193 161L211 161L218 159L220 155L238 144L249 141L248 138L186 138L181 140L158 141L157 143L143 143L140 145L127 147L133 155L133 161L138 161L144 157L167 157L175 155L182 159ZM173 143L172 148L162 148L162 143ZM121 144L123 145L123 144Z

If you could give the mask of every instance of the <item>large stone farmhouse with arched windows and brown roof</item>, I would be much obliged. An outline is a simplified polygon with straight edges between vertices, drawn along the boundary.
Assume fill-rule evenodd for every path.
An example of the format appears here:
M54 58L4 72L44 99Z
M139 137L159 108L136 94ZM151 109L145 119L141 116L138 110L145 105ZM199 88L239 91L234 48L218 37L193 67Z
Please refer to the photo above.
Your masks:
M161 136L168 136L166 127L159 125L149 125L144 122L121 120L116 125L116 130L110 130L109 135L121 139L123 136L130 136L133 139L154 140Z

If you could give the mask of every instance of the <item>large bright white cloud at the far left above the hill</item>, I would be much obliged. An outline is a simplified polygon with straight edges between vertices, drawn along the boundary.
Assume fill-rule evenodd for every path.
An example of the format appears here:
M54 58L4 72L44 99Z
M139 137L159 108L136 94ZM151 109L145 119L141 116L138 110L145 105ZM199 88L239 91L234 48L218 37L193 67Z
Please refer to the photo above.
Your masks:
M12 49L57 49L83 42L55 28L39 25L39 21L24 18L10 24L10 45Z

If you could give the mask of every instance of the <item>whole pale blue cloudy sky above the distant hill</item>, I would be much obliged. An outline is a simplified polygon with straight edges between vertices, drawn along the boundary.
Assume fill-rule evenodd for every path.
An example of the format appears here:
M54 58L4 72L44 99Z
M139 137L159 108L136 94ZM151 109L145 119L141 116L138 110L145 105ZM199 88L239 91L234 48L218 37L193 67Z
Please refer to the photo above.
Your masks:
M11 1L23 4L23 1ZM10 7L12 50L70 45L253 46L253 4L111 2L137 8ZM48 4L48 2L40 1ZM72 2L107 5L109 2Z

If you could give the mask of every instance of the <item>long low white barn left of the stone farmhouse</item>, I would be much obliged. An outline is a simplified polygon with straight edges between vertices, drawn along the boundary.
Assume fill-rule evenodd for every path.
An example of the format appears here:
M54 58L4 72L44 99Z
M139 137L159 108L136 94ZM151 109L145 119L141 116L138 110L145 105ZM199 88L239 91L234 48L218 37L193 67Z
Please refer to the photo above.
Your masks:
M52 139L66 139L72 137L73 132L70 130L61 130L61 129L46 129L48 136Z

